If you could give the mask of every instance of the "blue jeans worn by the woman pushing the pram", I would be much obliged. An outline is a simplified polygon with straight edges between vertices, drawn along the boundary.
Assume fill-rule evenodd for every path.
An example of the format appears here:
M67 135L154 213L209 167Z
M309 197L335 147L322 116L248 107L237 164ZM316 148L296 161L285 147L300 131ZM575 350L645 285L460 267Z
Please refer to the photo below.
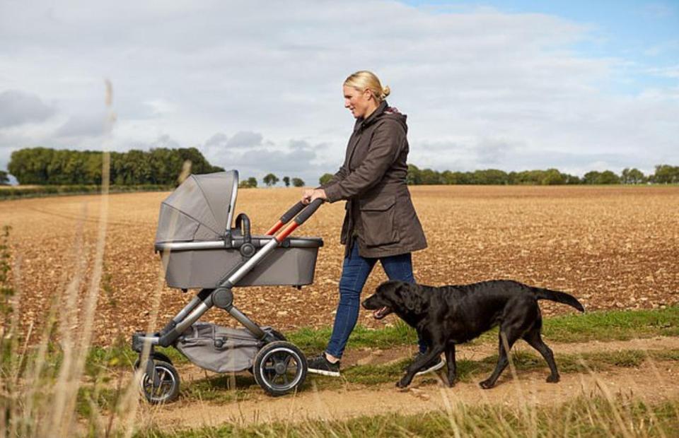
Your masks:
M359 245L354 242L351 254L344 258L342 278L340 278L340 303L337 304L335 324L332 326L330 343L325 352L335 357L342 357L349 335L359 319L361 305L361 290L373 270L373 266L380 261L390 280L401 280L415 283L412 276L412 258L410 253L397 256L381 257L380 259L359 256ZM426 345L419 340L419 351L424 353Z

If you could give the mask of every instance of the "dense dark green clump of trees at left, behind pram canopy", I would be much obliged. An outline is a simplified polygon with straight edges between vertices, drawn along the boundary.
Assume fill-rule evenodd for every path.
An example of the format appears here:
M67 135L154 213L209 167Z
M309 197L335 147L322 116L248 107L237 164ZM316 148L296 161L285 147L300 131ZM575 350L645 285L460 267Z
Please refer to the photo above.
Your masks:
M95 150L24 148L15 150L7 170L19 184L101 184L103 154ZM177 184L182 166L203 174L224 169L211 165L197 148L155 148L110 153L110 182L117 185Z

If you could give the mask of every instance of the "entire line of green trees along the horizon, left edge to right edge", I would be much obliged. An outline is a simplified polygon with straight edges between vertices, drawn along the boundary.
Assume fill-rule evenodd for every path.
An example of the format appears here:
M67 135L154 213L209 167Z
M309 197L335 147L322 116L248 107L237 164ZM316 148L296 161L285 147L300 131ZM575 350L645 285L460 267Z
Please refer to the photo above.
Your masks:
M102 153L93 150L66 150L52 148L24 148L15 150L8 164L8 171L19 184L37 185L88 185L101 184ZM194 174L221 172L224 169L211 165L197 148L155 148L148 151L129 150L110 153L110 181L116 185L154 184L171 186L184 162L190 160ZM327 182L332 174L320 177ZM0 184L8 184L8 173L0 171ZM262 178L267 187L281 181L273 173ZM303 187L303 179L282 177L285 187ZM679 184L679 166L656 165L652 174L644 174L637 168L626 168L620 174L611 170L591 171L583 177L559 172L557 169L523 170L505 172L498 169L472 172L439 172L419 169L408 165L407 184ZM240 187L257 187L257 179L250 177L240 182Z

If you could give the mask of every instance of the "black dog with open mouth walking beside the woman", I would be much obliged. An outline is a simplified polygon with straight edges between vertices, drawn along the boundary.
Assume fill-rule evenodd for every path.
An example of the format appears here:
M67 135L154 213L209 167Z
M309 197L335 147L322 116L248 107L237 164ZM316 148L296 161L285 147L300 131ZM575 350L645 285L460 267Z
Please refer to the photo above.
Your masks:
M585 311L582 304L567 293L533 288L511 280L492 280L441 288L387 281L379 285L375 294L363 302L363 307L374 310L373 316L377 319L394 312L416 329L427 345L426 353L408 367L405 376L396 384L400 388L408 386L419 369L444 351L448 362L448 384L453 386L456 379L455 344L470 341L499 325L497 366L493 374L480 383L482 388L488 389L495 385L508 364L507 350L521 338L545 357L552 372L547 381L559 381L552 350L540 337L542 316L538 300L561 302L580 312Z

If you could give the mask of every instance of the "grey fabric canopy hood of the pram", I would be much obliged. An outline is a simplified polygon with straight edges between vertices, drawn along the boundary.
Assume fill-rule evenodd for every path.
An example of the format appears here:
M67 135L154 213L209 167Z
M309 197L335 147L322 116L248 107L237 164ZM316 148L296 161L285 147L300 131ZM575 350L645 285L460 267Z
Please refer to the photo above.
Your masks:
M161 203L156 243L224 239L237 190L236 170L190 175Z

